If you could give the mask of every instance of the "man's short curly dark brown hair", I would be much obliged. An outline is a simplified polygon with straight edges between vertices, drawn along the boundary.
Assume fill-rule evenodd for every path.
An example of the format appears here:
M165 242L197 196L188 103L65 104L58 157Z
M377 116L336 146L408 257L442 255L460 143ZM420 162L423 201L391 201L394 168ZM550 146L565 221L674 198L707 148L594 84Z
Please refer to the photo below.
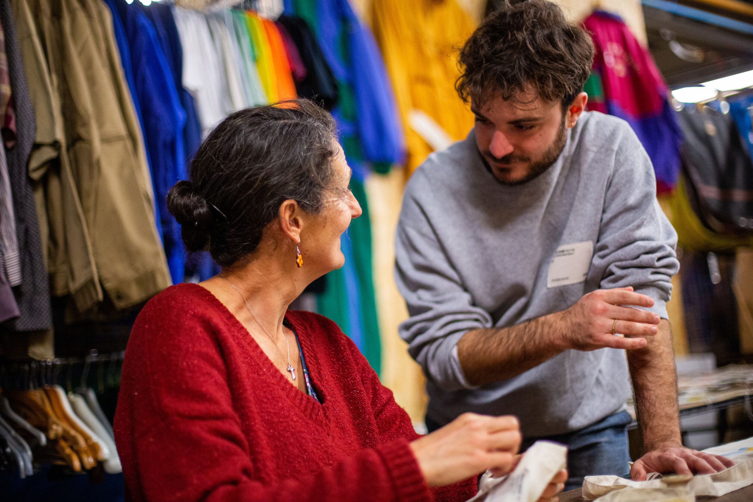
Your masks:
M483 102L498 92L517 101L534 90L547 101L569 105L591 71L593 42L546 0L505 0L465 42L456 90L465 102Z

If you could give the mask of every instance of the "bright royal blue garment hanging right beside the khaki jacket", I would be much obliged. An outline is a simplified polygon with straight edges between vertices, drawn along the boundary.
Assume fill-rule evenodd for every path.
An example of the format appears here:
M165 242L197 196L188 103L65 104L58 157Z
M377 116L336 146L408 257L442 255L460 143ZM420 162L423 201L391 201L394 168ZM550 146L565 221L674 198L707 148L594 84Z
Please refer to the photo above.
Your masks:
M115 5L113 15L117 11L128 39L167 264L172 282L177 284L184 278L185 253L180 225L167 210L167 191L175 182L186 178L183 151L185 112L169 63L149 18L137 4L127 4L126 0L112 0L112 3Z

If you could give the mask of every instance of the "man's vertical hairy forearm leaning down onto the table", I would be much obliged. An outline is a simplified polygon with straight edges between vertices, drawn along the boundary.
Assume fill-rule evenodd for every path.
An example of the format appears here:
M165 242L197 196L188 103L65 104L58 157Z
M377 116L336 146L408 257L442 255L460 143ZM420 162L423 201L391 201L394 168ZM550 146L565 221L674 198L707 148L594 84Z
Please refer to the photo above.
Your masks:
M657 335L648 339L645 348L627 351L627 363L645 451L681 446L677 372L669 321L660 321Z

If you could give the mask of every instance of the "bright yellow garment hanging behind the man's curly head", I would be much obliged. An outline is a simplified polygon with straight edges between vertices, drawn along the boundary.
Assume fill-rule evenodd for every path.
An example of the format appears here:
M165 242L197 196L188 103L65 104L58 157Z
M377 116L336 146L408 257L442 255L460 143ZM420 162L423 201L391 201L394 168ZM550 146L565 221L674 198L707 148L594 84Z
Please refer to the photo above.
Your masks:
M457 49L474 24L455 0L374 0L373 32L395 88L406 136L406 175L433 151L408 117L417 109L453 140L465 138L474 123L455 90L460 76Z

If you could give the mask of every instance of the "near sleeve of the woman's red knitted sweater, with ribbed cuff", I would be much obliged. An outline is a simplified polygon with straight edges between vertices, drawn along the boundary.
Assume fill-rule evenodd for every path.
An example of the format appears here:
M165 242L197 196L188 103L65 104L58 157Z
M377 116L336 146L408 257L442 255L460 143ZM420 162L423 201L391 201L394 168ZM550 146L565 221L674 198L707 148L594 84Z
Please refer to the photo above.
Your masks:
M141 491L136 500L431 500L399 434L316 475L265 482L251 461L264 445L245 439L249 425L234 411L211 323L151 310L142 311L129 340L115 423L127 485Z

